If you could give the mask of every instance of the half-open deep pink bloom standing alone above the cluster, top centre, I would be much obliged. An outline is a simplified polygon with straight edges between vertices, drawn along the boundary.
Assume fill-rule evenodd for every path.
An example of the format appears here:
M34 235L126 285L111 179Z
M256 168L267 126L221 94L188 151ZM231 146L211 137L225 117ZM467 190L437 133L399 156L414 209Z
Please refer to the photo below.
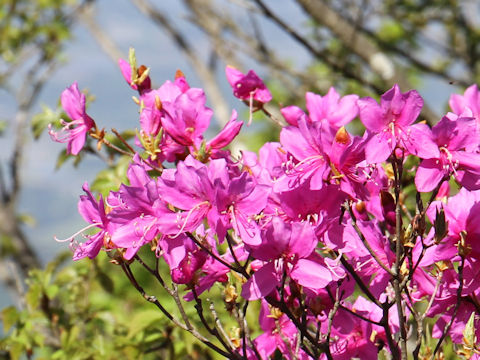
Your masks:
M233 95L235 95L235 97L241 100L253 99L261 104L272 100L272 94L255 71L250 70L245 75L234 67L227 66L225 73L228 82L233 88Z

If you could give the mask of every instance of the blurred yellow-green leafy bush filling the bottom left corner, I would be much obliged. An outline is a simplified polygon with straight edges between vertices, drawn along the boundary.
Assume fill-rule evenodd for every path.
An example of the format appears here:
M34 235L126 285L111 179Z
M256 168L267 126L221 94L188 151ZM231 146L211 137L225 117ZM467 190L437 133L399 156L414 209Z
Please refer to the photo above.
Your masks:
M1 312L0 349L12 359L158 359L185 352L183 342L174 349L177 332L168 319L132 292L106 256L62 268L70 255L31 271L25 308Z

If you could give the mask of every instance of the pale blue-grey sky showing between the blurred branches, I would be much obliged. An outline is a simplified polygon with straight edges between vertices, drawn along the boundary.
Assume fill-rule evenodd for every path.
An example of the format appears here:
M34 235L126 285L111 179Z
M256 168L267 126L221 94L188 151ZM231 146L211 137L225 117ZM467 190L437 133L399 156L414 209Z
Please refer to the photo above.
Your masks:
M140 14L130 1L116 0L114 3L115 6L112 6L113 2L99 1L96 19L125 57L128 48L135 47L139 62L152 68L151 77L157 86L166 79L172 79L177 69L182 69L192 86L201 86L188 62L161 30ZM205 40L200 36L199 30L186 20L182 2L168 0L161 3L170 20L187 30L199 55L205 55L207 46L202 43ZM278 0L276 5L276 10L288 16L290 21L300 21L301 12L292 7L290 1ZM294 43L289 44L288 40L280 38L273 25L264 26L275 49L290 56L299 66L306 63L306 54L301 48L294 48ZM130 100L135 93L85 26L75 25L73 39L65 48L64 58L65 64L48 81L34 112L42 104L55 107L61 92L78 81L80 88L88 89L96 97L88 113L100 127L123 130L137 126L137 106ZM219 81L223 82L222 89L228 91L226 80L219 76ZM438 86L433 79L427 79L419 90L430 104L445 103L452 91ZM229 97L229 102L241 109L232 96ZM5 93L0 93L0 118L11 118L14 110L11 99ZM0 138L0 146L8 148L8 139ZM56 243L54 235L67 238L85 226L77 212L78 196L82 193L82 184L85 181L91 182L95 173L103 167L99 160L89 157L78 168L67 164L60 170L55 170L56 157L62 149L62 144L52 142L45 133L39 141L29 141L22 164L24 188L20 212L36 219L36 225L27 227L26 233L44 263L67 248L65 243ZM6 155L8 152L2 152L0 160L4 161ZM0 307L11 302L12 299L0 289Z

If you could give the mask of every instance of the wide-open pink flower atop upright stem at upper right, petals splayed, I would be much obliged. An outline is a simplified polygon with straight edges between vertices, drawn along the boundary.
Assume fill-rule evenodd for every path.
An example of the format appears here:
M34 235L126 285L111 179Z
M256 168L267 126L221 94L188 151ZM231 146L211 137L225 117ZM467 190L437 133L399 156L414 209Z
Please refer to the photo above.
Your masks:
M398 146L424 159L438 157L438 147L425 124L415 124L423 99L415 90L400 92L398 85L381 96L380 105L372 98L358 100L360 120L369 131L365 147L366 160L378 163L386 160Z

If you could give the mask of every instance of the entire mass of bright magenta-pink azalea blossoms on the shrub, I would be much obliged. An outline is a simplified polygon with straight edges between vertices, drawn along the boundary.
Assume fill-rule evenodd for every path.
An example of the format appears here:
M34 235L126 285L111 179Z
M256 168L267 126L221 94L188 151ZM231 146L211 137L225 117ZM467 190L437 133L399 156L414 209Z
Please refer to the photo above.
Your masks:
M148 69L119 64L139 94L139 150L118 191L96 198L84 185L79 211L99 231L72 238L75 260L105 250L130 261L148 245L188 301L212 286L231 298L240 284L233 301L260 300L262 330L233 343L241 358L400 358L408 324L425 317L436 319L433 337L464 344L474 314L480 339L475 85L433 127L418 121L421 96L397 85L379 102L307 93L306 111L281 109L279 142L234 157L225 147L243 124L235 111L207 141L213 112L202 89L180 72L154 89ZM253 71L227 67L227 77L250 111L272 99ZM74 120L62 141L78 154L93 120L76 84L62 105ZM352 121L364 134L347 130Z

